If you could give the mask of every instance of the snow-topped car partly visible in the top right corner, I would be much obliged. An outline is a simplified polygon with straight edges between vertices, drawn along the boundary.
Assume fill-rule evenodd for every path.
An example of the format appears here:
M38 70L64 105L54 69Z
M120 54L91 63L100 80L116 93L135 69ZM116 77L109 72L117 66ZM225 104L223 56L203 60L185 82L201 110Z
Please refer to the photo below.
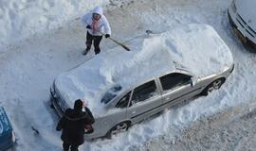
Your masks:
M228 9L229 23L238 38L256 48L256 1L233 0Z

